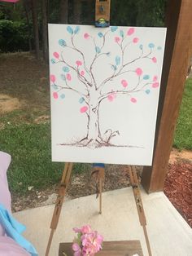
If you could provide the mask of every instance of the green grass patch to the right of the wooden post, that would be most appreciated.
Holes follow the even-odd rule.
[[[173,147],[192,150],[192,78],[185,84]]]

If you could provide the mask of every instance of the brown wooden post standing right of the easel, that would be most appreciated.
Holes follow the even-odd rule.
[[[142,186],[146,192],[164,189],[168,158],[172,149],[192,43],[192,1],[169,0],[167,40],[159,98],[153,166],[145,166]]]

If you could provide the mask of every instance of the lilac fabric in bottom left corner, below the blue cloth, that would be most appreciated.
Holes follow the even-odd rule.
[[[1,256],[30,256],[28,252],[20,247],[11,237],[0,236]]]

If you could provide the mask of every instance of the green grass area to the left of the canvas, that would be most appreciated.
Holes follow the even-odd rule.
[[[64,164],[51,162],[50,122],[17,124],[7,121],[17,116],[18,112],[13,112],[9,118],[1,118],[4,121],[0,133],[1,150],[12,157],[8,170],[11,192],[21,194],[28,192],[29,186],[43,189],[59,183]],[[76,164],[73,171],[85,170],[86,166]]]

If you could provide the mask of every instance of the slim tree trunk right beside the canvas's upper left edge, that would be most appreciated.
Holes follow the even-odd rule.
[[[46,0],[41,0],[42,7],[42,50],[43,59],[48,60],[48,28],[47,28],[47,6]]]

